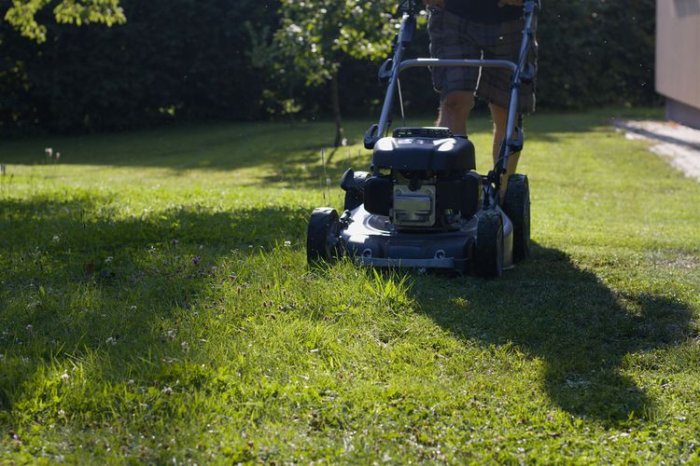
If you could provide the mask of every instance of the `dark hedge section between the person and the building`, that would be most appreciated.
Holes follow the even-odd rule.
[[[544,2],[538,103],[584,108],[658,101],[655,7],[655,0]]]

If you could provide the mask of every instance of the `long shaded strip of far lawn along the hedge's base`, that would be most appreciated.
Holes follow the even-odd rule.
[[[411,120],[410,125],[430,125],[432,116]],[[363,134],[373,122],[347,121],[345,132],[350,144],[359,144]],[[558,142],[567,133],[591,131],[605,126],[607,119],[588,114],[536,114],[526,121],[527,139]],[[400,126],[400,123],[397,122]],[[333,124],[312,123],[236,123],[185,128],[164,128],[153,131],[136,131],[124,134],[97,134],[77,137],[48,136],[31,140],[0,141],[0,162],[17,165],[47,163],[44,149],[51,147],[61,153],[61,165],[92,165],[111,167],[159,167],[176,172],[185,170],[238,170],[244,168],[272,167],[272,181],[289,181],[295,171],[306,165],[320,165],[320,151],[326,149],[328,164],[348,164],[342,154],[333,155],[330,142]],[[472,134],[490,134],[491,122],[487,115],[476,115],[470,120]],[[326,137],[327,136],[327,137]],[[359,149],[360,164],[357,170],[366,170],[371,152]],[[353,148],[354,151],[354,148]],[[486,152],[484,152],[486,151]],[[477,147],[479,154],[490,153]],[[352,153],[353,157],[357,154]],[[297,178],[308,178],[304,172]],[[315,174],[318,175],[318,174]],[[270,180],[266,180],[270,181]],[[293,181],[293,180],[292,180]],[[310,181],[312,187],[318,180]]]

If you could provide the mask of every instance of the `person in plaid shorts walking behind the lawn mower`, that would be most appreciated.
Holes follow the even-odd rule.
[[[518,61],[523,31],[522,0],[423,0],[428,8],[430,55],[441,59],[499,59]],[[536,24],[533,24],[533,30]],[[537,42],[528,61],[536,66]],[[536,68],[535,68],[536,69]],[[453,134],[467,134],[474,97],[489,104],[493,118],[493,159],[496,163],[505,137],[511,73],[498,68],[433,68],[433,86],[440,94],[437,126]],[[535,110],[535,81],[523,83],[518,111]],[[501,179],[504,198],[508,178],[515,173],[520,153],[508,158]]]

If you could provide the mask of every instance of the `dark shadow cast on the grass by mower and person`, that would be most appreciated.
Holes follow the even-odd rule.
[[[417,299],[424,313],[461,338],[515,344],[541,358],[549,397],[584,418],[652,419],[654,400],[625,374],[626,358],[678,344],[690,332],[682,303],[617,294],[563,252],[541,246],[500,280],[456,289],[426,279],[421,290],[430,290]]]

